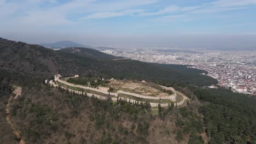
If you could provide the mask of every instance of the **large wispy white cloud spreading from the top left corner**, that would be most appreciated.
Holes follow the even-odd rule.
[[[142,13],[134,10],[141,5],[148,5],[159,0],[130,0],[98,2],[96,0],[72,0],[67,3],[58,3],[56,0],[24,0],[13,3],[0,0],[0,19],[5,16],[8,21],[2,23],[6,26],[55,26],[70,25],[84,22],[88,19],[104,19]],[[49,7],[40,7],[47,3]],[[79,14],[76,20],[69,20],[68,15]],[[88,15],[89,14],[89,15]],[[15,15],[15,16],[13,16]],[[86,16],[87,15],[87,16]],[[84,17],[87,17],[85,19]],[[1,26],[1,20],[0,20]]]

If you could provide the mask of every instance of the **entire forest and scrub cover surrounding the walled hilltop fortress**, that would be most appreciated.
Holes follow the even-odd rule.
[[[96,50],[79,49],[87,54],[0,39],[0,143],[19,143],[4,111],[16,85],[22,87],[22,94],[11,100],[10,117],[27,143],[256,142],[256,98],[230,89],[204,88],[216,83],[200,75],[206,71],[129,59],[112,61],[112,56]],[[147,80],[171,86],[191,100],[184,107],[150,107],[89,98],[86,93],[77,95],[44,84],[58,73]]]

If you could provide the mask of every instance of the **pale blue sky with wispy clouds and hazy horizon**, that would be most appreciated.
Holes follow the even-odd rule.
[[[256,0],[0,0],[0,37],[31,44],[256,49]]]

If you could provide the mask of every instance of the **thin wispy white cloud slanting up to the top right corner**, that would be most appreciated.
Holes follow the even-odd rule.
[[[157,23],[184,22],[191,20],[189,18],[191,14],[222,13],[224,11],[246,9],[254,4],[256,4],[256,0],[218,0],[189,7],[170,5],[155,12],[140,13],[139,16],[158,16],[152,19]]]

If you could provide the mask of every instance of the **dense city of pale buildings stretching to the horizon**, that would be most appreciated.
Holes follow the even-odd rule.
[[[256,95],[256,52],[210,50],[102,50],[110,55],[143,62],[191,65],[188,67],[208,71],[221,87],[234,92]],[[210,86],[217,88],[216,86]]]

